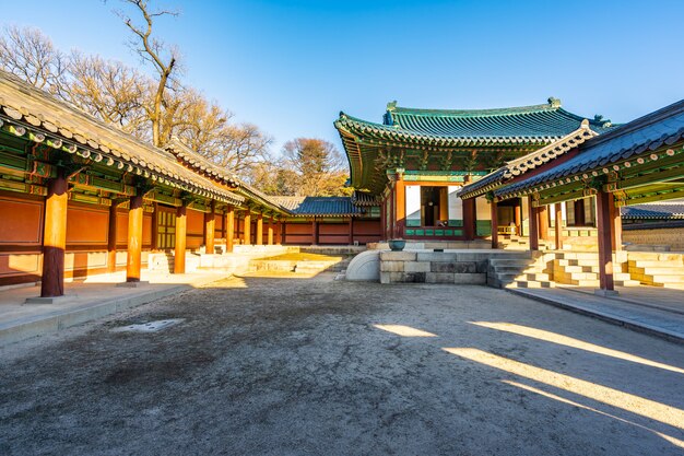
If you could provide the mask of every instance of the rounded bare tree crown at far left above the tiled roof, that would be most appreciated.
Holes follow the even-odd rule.
[[[38,89],[60,95],[68,72],[66,56],[37,28],[10,25],[0,36],[0,68]]]

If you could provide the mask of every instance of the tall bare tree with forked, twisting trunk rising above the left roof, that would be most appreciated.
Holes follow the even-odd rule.
[[[163,103],[164,92],[168,89],[172,74],[178,63],[178,51],[175,48],[168,48],[163,42],[152,36],[152,25],[156,17],[164,15],[178,15],[177,12],[160,10],[151,11],[146,0],[122,0],[134,7],[135,11],[142,15],[143,25],[133,23],[133,20],[123,12],[118,12],[123,23],[133,32],[135,38],[131,43],[133,49],[140,57],[152,63],[158,80],[156,81],[156,90],[154,92],[150,119],[152,120],[152,143],[155,147],[162,144],[162,122],[163,122]]]

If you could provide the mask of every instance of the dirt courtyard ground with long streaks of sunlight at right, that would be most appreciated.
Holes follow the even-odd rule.
[[[0,355],[2,455],[681,455],[683,410],[684,347],[484,287],[232,278]]]

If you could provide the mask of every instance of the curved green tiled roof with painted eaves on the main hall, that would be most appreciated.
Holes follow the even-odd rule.
[[[381,124],[340,113],[334,126],[349,157],[351,185],[378,195],[387,183],[388,162],[406,169],[411,167],[402,162],[427,171],[488,171],[487,163],[511,161],[554,143],[579,129],[582,120],[549,98],[534,106],[460,110],[390,103]],[[599,117],[587,124],[593,133],[613,128]],[[465,165],[471,156],[477,162]]]

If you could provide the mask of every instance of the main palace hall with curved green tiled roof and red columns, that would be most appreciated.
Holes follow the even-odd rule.
[[[335,127],[351,185],[380,201],[384,238],[425,241],[492,235],[487,191],[553,159],[558,163],[573,148],[613,128],[568,113],[556,98],[479,110],[414,109],[394,102],[382,124],[341,113]],[[497,210],[499,226],[527,232],[523,200],[510,199]],[[591,224],[583,213],[583,207],[570,212],[570,225]]]

